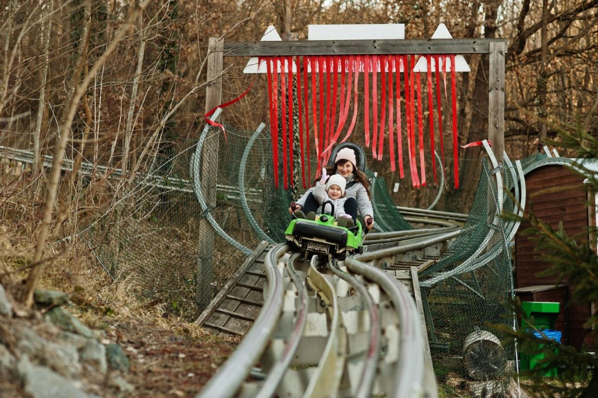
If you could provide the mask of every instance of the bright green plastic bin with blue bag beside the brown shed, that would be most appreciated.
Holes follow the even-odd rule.
[[[554,330],[554,322],[559,316],[560,303],[546,301],[522,301],[521,308],[526,317],[533,317],[532,324],[538,330]],[[524,324],[523,324],[524,323]],[[527,321],[521,322],[523,329],[530,329]],[[521,353],[520,368],[533,369],[544,358],[544,354],[529,355]],[[549,368],[542,373],[544,376],[556,376],[557,368]]]

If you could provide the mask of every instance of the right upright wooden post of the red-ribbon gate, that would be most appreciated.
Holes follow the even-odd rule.
[[[490,43],[490,75],[488,80],[488,140],[498,164],[502,164],[505,148],[505,54],[506,42]]]

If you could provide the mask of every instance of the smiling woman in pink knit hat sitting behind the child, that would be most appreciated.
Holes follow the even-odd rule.
[[[374,211],[372,209],[370,183],[364,173],[360,172],[355,160],[355,151],[351,148],[343,148],[338,151],[334,160],[334,167],[327,167],[327,174],[340,174],[346,179],[347,200],[344,202],[344,212],[351,216],[353,222],[357,221],[357,212],[362,215],[365,227],[371,229],[374,225]],[[316,212],[319,207],[318,201],[313,197],[313,189],[310,188],[297,201],[295,209],[289,207],[289,213],[300,210],[303,213]]]

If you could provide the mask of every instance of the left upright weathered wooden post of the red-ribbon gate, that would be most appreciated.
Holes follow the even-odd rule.
[[[208,73],[207,81],[222,72],[222,57],[224,55],[224,40],[218,40],[216,37],[210,37],[208,41]],[[222,78],[215,79],[206,86],[206,111],[222,103]],[[213,211],[216,207],[216,179],[218,177],[218,143],[219,136],[207,139],[203,143],[202,165],[201,165],[201,186],[202,194],[206,200],[208,209],[206,212]],[[197,183],[197,182],[196,182]],[[213,247],[215,232],[208,222],[208,219],[202,217],[199,222],[199,244],[200,252],[197,264],[197,304],[200,310],[208,306],[212,300],[213,278]]]

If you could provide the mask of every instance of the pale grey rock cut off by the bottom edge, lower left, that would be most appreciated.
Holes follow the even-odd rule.
[[[73,381],[44,366],[20,365],[25,391],[33,398],[89,398]]]

